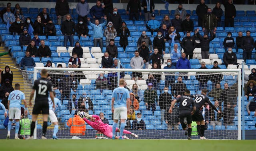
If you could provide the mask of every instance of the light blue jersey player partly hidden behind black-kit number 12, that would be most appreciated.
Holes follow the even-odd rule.
[[[58,109],[61,111],[61,103],[60,100],[58,98],[56,98],[56,93],[53,91],[53,95],[54,95],[54,104],[55,107],[58,106]],[[53,108],[53,103],[52,103],[52,99],[48,98],[48,103],[49,103],[49,119],[50,121],[54,124],[54,129],[53,129],[53,135],[52,135],[52,139],[58,139],[58,137],[56,136],[58,130],[59,130],[59,125],[58,125],[58,119],[54,113],[54,108]]]

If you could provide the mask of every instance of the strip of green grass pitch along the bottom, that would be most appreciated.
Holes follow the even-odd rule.
[[[1,151],[252,151],[255,140],[0,140]]]

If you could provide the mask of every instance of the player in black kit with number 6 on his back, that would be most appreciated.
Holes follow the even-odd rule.
[[[194,114],[194,112],[196,111],[196,104],[193,100],[193,98],[190,97],[190,90],[186,89],[185,90],[185,95],[184,96],[180,96],[177,99],[174,99],[172,101],[172,105],[169,109],[169,113],[172,113],[172,108],[174,107],[174,105],[176,104],[176,102],[180,102],[179,105],[179,110],[180,110],[180,123],[181,126],[183,128],[183,130],[186,129],[186,124],[184,123],[184,118],[187,119],[187,123],[188,123],[188,139],[191,139],[191,132],[192,132],[192,127],[191,127],[191,123],[192,123],[192,118],[191,118],[191,114]],[[193,111],[191,112],[191,106],[193,106]]]

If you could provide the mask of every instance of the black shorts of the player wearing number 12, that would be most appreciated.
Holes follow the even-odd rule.
[[[32,114],[49,114],[48,100],[36,101],[33,107]]]

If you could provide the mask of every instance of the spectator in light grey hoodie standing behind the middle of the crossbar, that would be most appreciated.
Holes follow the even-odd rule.
[[[131,65],[132,69],[142,69],[143,68],[144,61],[143,61],[143,58],[140,57],[138,50],[136,50],[134,52],[134,57],[132,57],[130,65]],[[138,79],[141,80],[142,73],[132,72],[132,80],[135,80],[136,76],[138,76]]]

